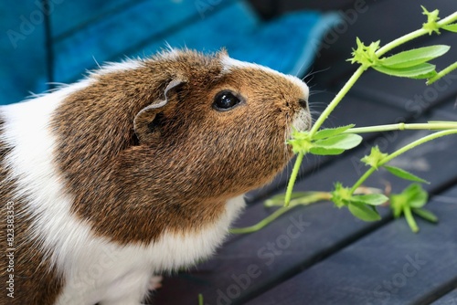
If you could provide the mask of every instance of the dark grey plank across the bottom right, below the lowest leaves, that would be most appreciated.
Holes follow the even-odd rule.
[[[430,303],[457,283],[457,204],[427,206],[439,225],[396,220],[247,304]]]

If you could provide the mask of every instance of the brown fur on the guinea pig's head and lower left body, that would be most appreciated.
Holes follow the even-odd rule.
[[[74,196],[72,212],[96,235],[125,245],[149,244],[165,230],[197,231],[218,220],[229,198],[268,183],[290,160],[284,141],[303,91],[256,68],[223,72],[224,56],[186,51],[146,60],[142,68],[93,75],[88,88],[71,94],[53,114],[55,164]],[[165,97],[174,80],[183,83]],[[214,110],[213,99],[223,89],[245,101],[233,110]],[[137,114],[165,98],[164,107],[137,118],[135,134]],[[159,113],[154,129],[144,128]],[[3,160],[4,143],[0,149]],[[2,181],[7,176],[0,165]],[[2,186],[3,201],[14,194],[14,182]],[[23,208],[20,198],[15,202]],[[27,240],[27,217],[17,225],[22,252],[16,251],[16,274],[24,278],[15,292],[21,301],[52,304],[62,282]],[[5,243],[5,230],[1,234]]]

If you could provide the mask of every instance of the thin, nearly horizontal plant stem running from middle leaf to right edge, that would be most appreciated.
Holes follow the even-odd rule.
[[[442,121],[442,122],[429,122],[429,123],[397,123],[387,125],[377,125],[368,127],[351,128],[344,133],[366,133],[366,132],[379,132],[379,131],[440,131],[440,130],[452,130],[457,129],[457,122],[455,121]]]

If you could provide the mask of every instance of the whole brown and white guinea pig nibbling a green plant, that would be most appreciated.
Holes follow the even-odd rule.
[[[0,303],[140,304],[282,171],[307,100],[295,77],[171,49],[1,107]]]

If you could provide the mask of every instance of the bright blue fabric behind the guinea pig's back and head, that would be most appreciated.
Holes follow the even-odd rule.
[[[82,78],[97,63],[154,54],[169,43],[216,51],[303,76],[333,14],[299,12],[264,22],[235,0],[49,0],[55,82]],[[41,14],[41,18],[40,18]],[[44,14],[38,0],[0,3],[0,104],[46,90]],[[28,26],[28,27],[27,27]],[[15,34],[16,33],[16,34]]]

